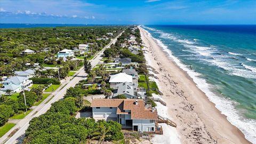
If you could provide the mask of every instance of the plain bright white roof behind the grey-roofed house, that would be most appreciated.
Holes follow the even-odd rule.
[[[109,83],[132,83],[132,76],[124,74],[124,73],[118,73],[115,75],[111,75],[109,79]]]

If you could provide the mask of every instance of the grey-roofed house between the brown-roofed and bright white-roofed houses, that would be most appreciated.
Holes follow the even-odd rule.
[[[138,97],[134,94],[133,85],[131,83],[121,83],[116,85],[116,90],[114,91],[113,97],[117,95],[125,95],[128,99],[137,99]]]

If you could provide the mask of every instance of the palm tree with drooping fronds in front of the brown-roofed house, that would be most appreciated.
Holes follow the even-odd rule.
[[[94,137],[92,140],[98,139],[98,144],[104,143],[105,139],[108,137],[111,137],[111,135],[108,135],[109,127],[106,127],[103,124],[99,125],[99,129],[93,133]]]

